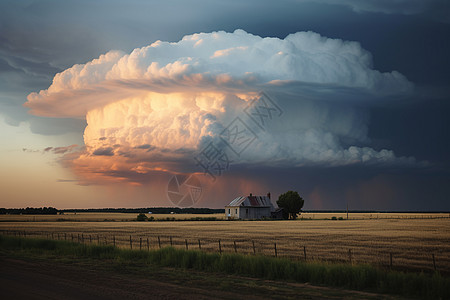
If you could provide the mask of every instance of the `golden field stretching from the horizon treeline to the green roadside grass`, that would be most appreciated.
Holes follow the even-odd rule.
[[[370,263],[412,271],[433,271],[436,266],[448,275],[450,219],[447,216],[402,214],[349,220],[187,222],[10,222],[3,219],[0,232],[142,250],[172,245],[214,252],[306,258],[307,261]]]

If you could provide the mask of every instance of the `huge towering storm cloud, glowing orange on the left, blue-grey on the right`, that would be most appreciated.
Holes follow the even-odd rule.
[[[412,84],[399,72],[374,70],[359,43],[313,32],[285,39],[242,30],[200,33],[130,54],[111,51],[57,74],[25,105],[41,116],[86,118],[79,164],[177,172],[192,171],[186,165],[196,151],[217,140],[261,90],[274,96],[283,117],[255,132],[252,151],[236,163],[412,161],[364,146],[368,118],[353,107],[355,101],[404,96]],[[76,168],[76,159],[71,165]]]

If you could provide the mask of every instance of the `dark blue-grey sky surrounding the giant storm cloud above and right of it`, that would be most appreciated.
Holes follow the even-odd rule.
[[[0,116],[7,126],[29,124],[37,136],[81,137],[84,119],[34,116],[23,107],[26,96],[47,89],[56,73],[110,50],[128,53],[156,40],[235,29],[356,41],[371,53],[373,69],[403,74],[412,93],[352,104],[368,122],[368,140],[357,146],[389,149],[417,163],[236,165],[226,176],[248,176],[274,194],[298,190],[306,209],[343,209],[348,202],[354,209],[450,210],[448,1],[2,1]]]

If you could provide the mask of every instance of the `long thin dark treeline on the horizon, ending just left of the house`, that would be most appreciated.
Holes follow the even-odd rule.
[[[153,214],[223,214],[225,209],[213,208],[179,208],[179,207],[147,207],[147,208],[88,208],[88,209],[63,209],[61,212],[116,212],[116,213],[149,213]]]

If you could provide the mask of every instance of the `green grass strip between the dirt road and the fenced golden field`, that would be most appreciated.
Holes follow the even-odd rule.
[[[450,299],[450,278],[438,273],[386,271],[370,265],[300,262],[260,255],[218,254],[167,247],[141,251],[113,246],[0,235],[0,247],[69,258],[108,259],[120,263],[194,269],[271,280],[342,287],[427,299]]]

